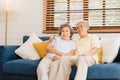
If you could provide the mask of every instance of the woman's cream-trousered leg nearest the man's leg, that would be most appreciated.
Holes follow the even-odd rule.
[[[59,60],[53,61],[50,65],[49,80],[56,80],[56,74],[58,72]]]

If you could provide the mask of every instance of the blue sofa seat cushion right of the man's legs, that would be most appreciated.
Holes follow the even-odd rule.
[[[88,79],[120,79],[120,63],[96,64],[88,69]]]

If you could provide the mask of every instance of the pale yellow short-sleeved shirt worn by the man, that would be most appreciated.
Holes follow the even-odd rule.
[[[76,40],[76,53],[78,54],[84,54],[89,52],[92,48],[97,47],[100,48],[100,40],[99,38],[94,34],[88,34],[85,38],[77,38]],[[98,62],[98,54],[93,55],[96,62]]]

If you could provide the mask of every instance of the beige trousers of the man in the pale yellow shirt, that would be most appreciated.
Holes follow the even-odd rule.
[[[59,69],[55,80],[69,80],[71,66],[77,66],[77,72],[74,80],[86,80],[88,67],[95,64],[92,56],[63,56],[60,59]]]

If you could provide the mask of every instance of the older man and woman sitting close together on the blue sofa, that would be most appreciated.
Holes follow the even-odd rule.
[[[74,80],[86,80],[88,67],[97,63],[100,42],[88,34],[88,22],[78,22],[76,28],[79,37],[74,41],[70,40],[73,30],[68,24],[60,26],[59,37],[51,38],[49,53],[37,68],[38,80],[69,80],[72,65],[77,66]]]

